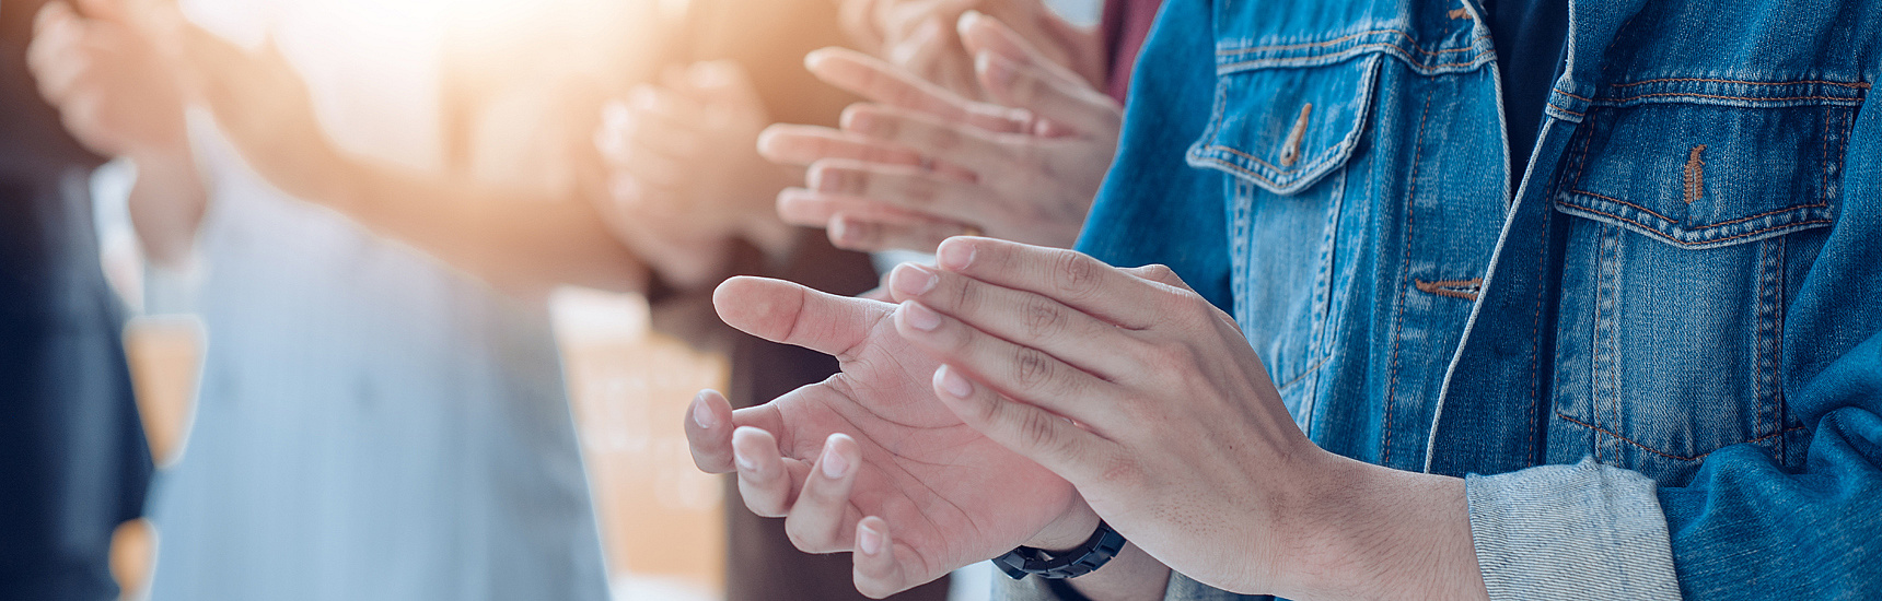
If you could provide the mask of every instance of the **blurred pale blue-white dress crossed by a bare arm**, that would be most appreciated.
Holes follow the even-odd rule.
[[[231,39],[269,32],[341,146],[422,169],[440,163],[439,8],[186,4]],[[152,490],[151,597],[606,599],[546,310],[282,195],[194,130],[209,344]]]

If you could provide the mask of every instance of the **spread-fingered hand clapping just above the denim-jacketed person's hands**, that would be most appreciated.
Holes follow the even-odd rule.
[[[969,101],[860,53],[826,49],[817,77],[875,100],[843,130],[774,126],[760,150],[809,165],[785,222],[826,225],[836,246],[932,252],[960,233],[1071,246],[1116,152],[1122,107],[1046,62],[990,17],[962,17],[979,77],[1007,105]],[[911,165],[896,152],[913,150]],[[892,156],[888,160],[879,160]]]

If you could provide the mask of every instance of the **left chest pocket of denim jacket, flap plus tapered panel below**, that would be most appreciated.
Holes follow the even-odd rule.
[[[1188,162],[1227,175],[1235,319],[1295,419],[1310,421],[1329,364],[1336,173],[1363,145],[1383,54],[1272,66],[1218,54],[1214,113]]]

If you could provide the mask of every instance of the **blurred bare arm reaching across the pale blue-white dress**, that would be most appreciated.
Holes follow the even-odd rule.
[[[173,9],[173,8],[171,8]],[[188,88],[271,184],[423,248],[499,287],[638,289],[646,269],[576,199],[523,197],[348,156],[320,130],[305,83],[263,47],[239,49],[171,13]]]

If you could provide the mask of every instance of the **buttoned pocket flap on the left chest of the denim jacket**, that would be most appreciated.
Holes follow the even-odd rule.
[[[1216,113],[1189,146],[1189,165],[1220,169],[1274,193],[1314,186],[1353,156],[1381,56],[1220,71]]]

